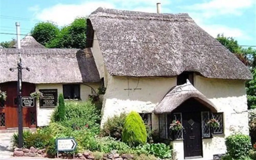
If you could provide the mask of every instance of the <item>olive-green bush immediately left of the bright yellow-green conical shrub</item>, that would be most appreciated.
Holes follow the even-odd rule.
[[[121,140],[126,116],[125,113],[122,113],[108,118],[100,130],[101,136],[110,136],[116,138],[116,140]]]

